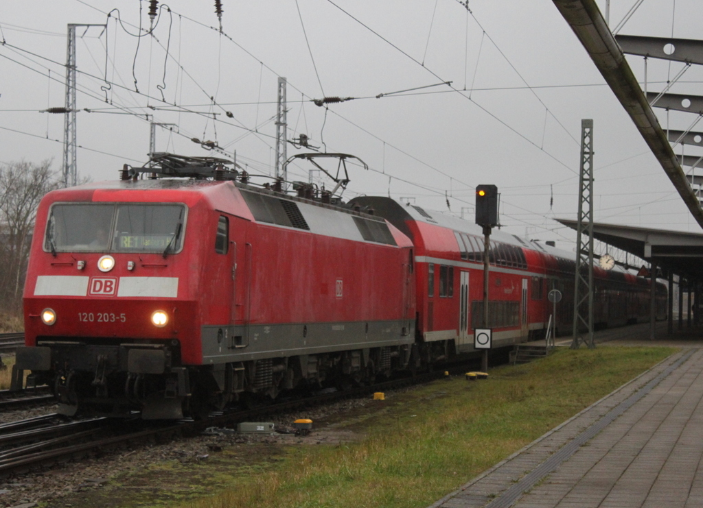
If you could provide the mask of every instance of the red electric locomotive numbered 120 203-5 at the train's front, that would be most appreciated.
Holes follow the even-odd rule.
[[[411,241],[380,218],[234,182],[219,162],[165,156],[44,197],[17,379],[32,370],[65,414],[154,419],[407,365]],[[137,178],[152,172],[187,180]]]

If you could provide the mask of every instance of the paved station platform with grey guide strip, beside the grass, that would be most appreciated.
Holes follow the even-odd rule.
[[[430,508],[703,507],[703,329],[648,337],[636,325],[595,344],[681,351]]]

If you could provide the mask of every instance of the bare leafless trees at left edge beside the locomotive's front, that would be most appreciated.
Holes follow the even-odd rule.
[[[51,160],[0,167],[0,298],[6,305],[20,302],[39,201],[58,187]]]

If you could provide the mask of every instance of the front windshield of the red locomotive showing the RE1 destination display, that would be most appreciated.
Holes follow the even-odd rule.
[[[180,204],[56,203],[44,250],[177,253],[185,219],[186,207]]]

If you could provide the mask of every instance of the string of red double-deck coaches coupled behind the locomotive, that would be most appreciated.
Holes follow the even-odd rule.
[[[444,213],[380,196],[363,196],[351,206],[386,218],[415,244],[418,348],[431,359],[472,352],[473,330],[483,320],[482,228]],[[543,337],[553,306],[549,290],[562,291],[557,328],[572,333],[574,255],[494,229],[489,249],[489,323],[494,347]],[[617,267],[594,268],[595,324],[618,326],[648,319],[650,283]],[[657,284],[659,319],[666,288]]]

